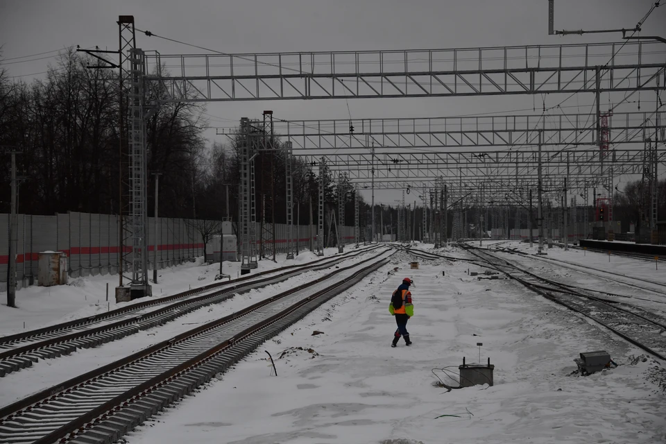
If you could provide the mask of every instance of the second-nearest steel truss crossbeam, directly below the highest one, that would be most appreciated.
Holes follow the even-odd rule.
[[[666,111],[659,111],[664,119]],[[615,112],[609,115],[608,143],[642,143],[644,128],[656,112]],[[355,134],[349,133],[354,126]],[[275,123],[275,132],[293,143],[298,155],[322,151],[357,152],[371,144],[377,153],[395,148],[461,148],[527,146],[598,146],[595,118],[590,114],[515,114],[493,117],[423,117],[403,119],[290,120]],[[370,145],[368,145],[370,144]]]

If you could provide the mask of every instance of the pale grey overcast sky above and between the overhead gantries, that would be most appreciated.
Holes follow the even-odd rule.
[[[555,0],[555,28],[633,28],[653,2]],[[115,50],[118,15],[134,15],[139,29],[225,53],[441,49],[621,40],[619,34],[548,35],[547,5],[547,0],[0,0],[0,44],[5,59],[76,44]],[[642,35],[666,36],[666,3],[653,12],[642,29]],[[137,35],[137,44],[162,54],[202,52],[145,35]],[[54,55],[21,59],[5,67],[11,76],[22,76],[29,81],[43,76],[35,73],[46,71],[49,63],[54,62]],[[594,100],[592,94],[578,96],[571,99],[572,104],[591,105]],[[548,96],[546,106],[561,99],[563,96]],[[643,106],[654,110],[654,105],[648,105],[649,100],[654,103],[654,94],[647,99]],[[357,99],[349,100],[349,111],[343,100],[210,103],[207,112],[211,126],[229,126],[241,117],[259,118],[265,109],[273,110],[280,119],[347,119],[349,113],[357,119],[477,114],[532,106],[531,96],[499,96]],[[214,130],[207,132],[211,140],[218,137],[223,142],[223,136],[214,134]],[[392,203],[395,192],[379,192],[375,196],[376,201]]]

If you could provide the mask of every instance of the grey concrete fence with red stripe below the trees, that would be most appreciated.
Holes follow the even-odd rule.
[[[0,214],[0,282],[7,282],[9,264],[9,214]],[[260,228],[257,224],[257,234]],[[311,233],[311,234],[310,234]],[[343,227],[343,241],[354,241],[354,228]],[[294,226],[299,250],[316,248],[316,227]],[[119,219],[112,214],[67,212],[55,216],[17,215],[16,256],[17,288],[37,283],[37,259],[42,251],[67,254],[68,273],[72,278],[97,274],[117,274],[119,269]],[[157,238],[157,239],[155,239]],[[165,268],[203,256],[204,242],[196,222],[187,219],[148,218],[148,261],[153,268],[157,240],[157,268]],[[287,252],[287,225],[275,225],[278,253]],[[126,247],[127,248],[127,247]],[[124,264],[127,271],[127,265]],[[2,289],[5,290],[5,289]]]

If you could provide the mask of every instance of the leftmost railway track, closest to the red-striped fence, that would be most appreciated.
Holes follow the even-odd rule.
[[[237,294],[282,282],[307,271],[317,271],[345,259],[366,254],[369,248],[303,265],[292,265],[273,271],[256,273],[251,278],[215,283],[185,291],[159,300],[147,300],[100,314],[53,325],[33,332],[0,338],[0,377],[30,367],[40,359],[69,355],[80,348],[90,348],[116,341],[141,330],[162,325],[191,311],[228,300]],[[259,278],[267,275],[266,278]]]

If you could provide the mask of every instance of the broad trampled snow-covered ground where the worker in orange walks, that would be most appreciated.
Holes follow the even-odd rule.
[[[400,253],[128,443],[666,441],[663,363],[513,282],[472,278],[464,262],[419,259],[410,270],[411,258]],[[416,281],[407,325],[414,344],[390,348],[388,300],[405,275]],[[495,385],[434,386],[431,370],[477,361],[477,342],[481,361],[495,365]],[[620,366],[575,375],[573,359],[592,350],[608,350]]]

